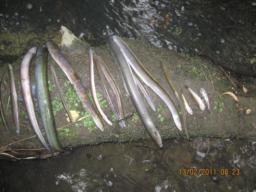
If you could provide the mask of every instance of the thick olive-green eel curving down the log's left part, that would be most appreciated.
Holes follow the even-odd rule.
[[[68,153],[70,151],[64,149],[61,146],[58,140],[58,134],[55,127],[52,102],[48,88],[47,57],[47,47],[45,45],[42,45],[38,48],[35,67],[35,81],[37,86],[36,90],[38,97],[38,107],[41,114],[44,131],[49,144],[55,151]]]

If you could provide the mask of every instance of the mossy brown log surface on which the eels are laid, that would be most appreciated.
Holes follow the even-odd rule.
[[[59,48],[63,51],[67,60],[73,65],[81,77],[87,92],[90,93],[88,64],[89,45],[77,39],[71,32],[65,30],[64,28],[62,29],[61,44],[59,45]],[[200,58],[195,58],[191,55],[180,54],[170,51],[169,49],[154,47],[153,45],[142,41],[134,41],[129,39],[124,40],[144,64],[145,68],[154,76],[154,78],[167,91],[167,93],[169,93],[178,107],[178,102],[175,95],[172,93],[172,90],[164,78],[160,67],[160,61],[164,61],[166,63],[169,73],[172,75],[177,87],[183,91],[193,110],[192,116],[186,114],[189,124],[190,137],[221,137],[256,140],[256,127],[254,126],[256,125],[255,79],[242,77],[238,82],[234,80],[233,77],[230,77],[234,83],[232,84],[230,79],[222,72],[222,70],[209,61],[201,60]],[[105,61],[113,78],[116,80],[116,83],[119,86],[124,104],[124,113],[128,114],[134,112],[136,114],[131,99],[125,92],[119,70],[114,63],[108,47],[106,45],[94,47],[94,51],[102,57],[103,61]],[[18,59],[13,64],[17,90],[20,90],[19,67],[21,59],[22,58]],[[60,86],[64,91],[64,96],[67,98],[67,103],[70,105],[70,109],[77,111],[77,113],[79,113],[79,118],[87,116],[81,103],[76,102],[76,95],[73,94],[73,88],[67,82],[67,77],[64,75],[63,71],[61,71],[55,61],[52,60],[51,56],[48,56],[48,64],[52,64],[55,67]],[[6,65],[1,66],[0,71],[3,72],[5,67]],[[35,59],[30,72],[32,82],[35,82],[34,70]],[[55,111],[55,122],[57,128],[59,128],[59,138],[64,147],[150,139],[148,133],[143,127],[142,122],[137,118],[137,116],[126,120],[127,127],[125,129],[119,128],[117,123],[114,123],[113,126],[109,126],[104,122],[105,131],[102,132],[95,128],[90,118],[85,118],[81,122],[64,127],[65,125],[68,125],[69,122],[67,122],[67,116],[65,115],[64,109],[62,109],[61,105],[59,105],[56,90],[52,86],[53,81],[49,67],[48,78],[51,98],[53,101],[52,105],[54,106]],[[8,77],[5,75],[3,80],[8,81]],[[97,76],[95,83],[96,92],[99,93],[99,97],[101,98],[100,102],[105,108],[104,111],[111,118],[113,114],[108,103],[105,101],[105,93],[102,90],[102,86]],[[196,103],[192,100],[192,97],[184,88],[184,85],[189,86],[198,93],[199,89],[203,87],[209,93],[210,113],[207,110],[199,110]],[[243,85],[245,88],[247,88],[247,93],[244,92],[242,88]],[[160,132],[162,139],[185,139],[185,131],[183,130],[180,132],[176,128],[167,106],[152,90],[150,90],[149,87],[147,88],[152,99],[154,100],[157,111],[152,111],[145,99],[144,102],[154,124]],[[231,96],[220,95],[220,93],[225,93],[227,91],[233,91],[236,94],[239,99],[239,106],[236,105],[236,101]],[[3,107],[6,109],[9,95],[4,85],[2,86],[1,94],[3,98]],[[36,95],[34,95],[34,99],[36,105],[35,107],[38,112]],[[36,137],[15,143],[13,145],[8,145],[9,143],[35,135],[29,122],[25,119],[25,108],[23,102],[19,102],[18,105],[20,114],[20,135],[16,135],[15,131],[12,129],[14,127],[12,110],[9,108],[7,122],[11,128],[11,134],[7,134],[6,131],[4,131],[3,124],[0,124],[0,145],[2,147],[5,146],[5,149],[41,148],[42,145]],[[239,110],[237,109],[238,107]],[[246,114],[247,109],[251,109],[249,114]],[[38,122],[42,128],[39,113]]]

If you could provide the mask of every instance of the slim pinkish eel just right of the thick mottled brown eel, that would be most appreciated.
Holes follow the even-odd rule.
[[[102,111],[102,108],[99,105],[99,100],[96,95],[96,89],[95,89],[95,83],[94,83],[94,70],[93,70],[93,50],[91,48],[89,49],[89,68],[90,68],[90,90],[92,93],[93,102],[100,116],[102,116],[102,119],[104,119],[105,122],[108,123],[108,125],[112,126],[112,122],[108,119],[108,117]]]

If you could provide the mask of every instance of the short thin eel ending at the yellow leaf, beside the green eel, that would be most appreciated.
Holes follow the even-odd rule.
[[[74,119],[73,119],[73,117],[72,117],[72,115],[71,115],[71,113],[70,113],[70,110],[69,110],[69,108],[68,108],[68,106],[67,106],[67,103],[66,103],[66,101],[65,101],[65,98],[64,98],[63,94],[61,93],[61,87],[60,87],[60,85],[59,85],[59,83],[58,83],[58,79],[57,79],[55,70],[54,70],[54,68],[53,68],[52,65],[50,65],[50,68],[51,68],[51,72],[52,72],[52,79],[53,79],[53,82],[54,82],[54,84],[55,84],[55,87],[56,87],[58,96],[61,98],[62,105],[64,106],[64,109],[65,109],[65,111],[67,112],[67,116],[68,116],[68,118],[70,119],[70,122],[71,122],[71,123],[74,123]]]

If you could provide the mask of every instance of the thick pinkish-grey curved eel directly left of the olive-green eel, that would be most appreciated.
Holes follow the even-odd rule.
[[[29,121],[31,123],[31,126],[33,130],[35,131],[36,136],[38,139],[41,141],[41,143],[47,148],[50,154],[52,154],[52,151],[48,147],[47,143],[44,140],[43,134],[40,130],[38,120],[36,118],[35,114],[35,108],[34,108],[34,102],[32,98],[32,92],[31,92],[31,84],[30,84],[30,76],[29,76],[29,66],[30,63],[36,54],[36,47],[32,47],[29,49],[29,51],[24,55],[21,64],[20,64],[20,85],[21,85],[21,90],[23,94],[23,101],[25,104],[26,108],[26,113],[29,117]],[[52,154],[52,156],[54,156]]]

